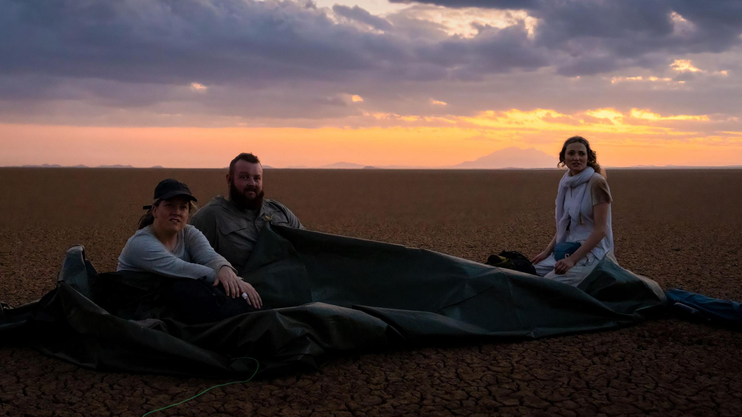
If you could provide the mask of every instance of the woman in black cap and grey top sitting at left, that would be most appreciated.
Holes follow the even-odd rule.
[[[127,240],[116,270],[191,278],[174,283],[166,297],[183,304],[183,312],[198,315],[190,321],[211,321],[260,309],[263,301],[252,285],[237,277],[237,271],[214,252],[209,240],[188,224],[195,201],[188,186],[177,180],[157,184],[154,202],[144,207],[147,212],[139,219],[137,232]],[[223,292],[213,288],[220,283]],[[246,302],[232,300],[238,296]],[[214,305],[199,305],[194,311],[193,303],[202,304],[200,301]]]

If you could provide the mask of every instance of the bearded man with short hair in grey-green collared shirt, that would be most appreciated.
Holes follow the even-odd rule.
[[[229,200],[217,195],[191,217],[191,225],[242,272],[267,223],[305,228],[286,206],[263,198],[263,165],[255,155],[237,155],[229,162],[226,180]]]

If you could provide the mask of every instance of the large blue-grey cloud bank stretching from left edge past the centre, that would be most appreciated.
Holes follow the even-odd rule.
[[[336,6],[335,13],[393,29],[360,7]],[[389,34],[365,32],[336,24],[311,2],[4,1],[0,91],[63,99],[65,93],[84,95],[85,87],[68,91],[59,82],[85,79],[92,80],[91,96],[104,94],[113,101],[122,96],[128,103],[131,94],[124,85],[101,91],[95,80],[260,89],[358,79],[434,81],[548,64],[539,56],[542,52],[528,45],[522,28],[483,31],[473,42],[448,39],[435,24],[416,30],[419,36],[413,38],[404,28]],[[444,42],[430,40],[436,36]],[[13,76],[48,79],[22,90],[13,87]],[[149,102],[151,97],[141,99]]]

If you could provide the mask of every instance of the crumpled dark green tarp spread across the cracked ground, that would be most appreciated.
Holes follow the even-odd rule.
[[[74,246],[56,289],[4,309],[0,343],[96,370],[242,377],[313,369],[328,352],[513,341],[613,329],[663,304],[657,283],[605,257],[579,287],[424,249],[266,228],[244,271],[265,306],[212,324],[168,317],[167,278],[97,275]],[[196,307],[194,307],[196,308]]]

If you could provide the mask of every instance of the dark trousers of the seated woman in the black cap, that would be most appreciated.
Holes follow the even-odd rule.
[[[204,280],[176,280],[162,296],[175,318],[185,324],[212,323],[256,311],[242,297],[227,297],[221,284],[211,286]]]

